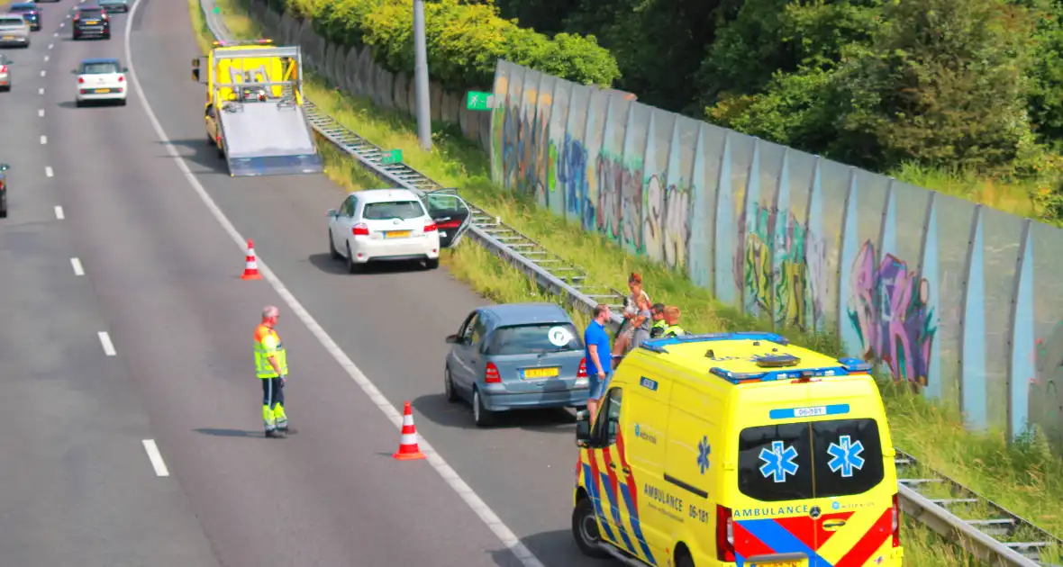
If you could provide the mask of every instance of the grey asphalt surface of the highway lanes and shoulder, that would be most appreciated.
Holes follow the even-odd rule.
[[[187,6],[140,0],[125,63],[186,167],[320,324],[309,328],[268,281],[239,279],[241,247],[139,92],[74,107],[71,70],[124,61],[128,16],[113,17],[111,40],[72,41],[74,0],[41,5],[44,30],[7,51],[18,74],[0,94],[4,565],[535,567],[500,530],[543,565],[603,565],[569,531],[571,414],[479,430],[442,396],[443,338],[483,298],[445,270],[343,273],[324,216],[343,191],[324,176],[229,177],[190,79]],[[289,353],[286,440],[263,436],[252,371],[267,304]],[[434,463],[391,459],[398,429],[322,334],[394,408],[412,401],[419,433],[486,506]]]

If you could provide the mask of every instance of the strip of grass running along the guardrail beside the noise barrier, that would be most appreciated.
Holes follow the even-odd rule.
[[[233,0],[219,0],[218,4],[235,36],[257,36],[257,27]],[[189,0],[189,11],[193,25],[200,30],[200,46],[207,49],[210,38],[198,0]],[[490,182],[487,155],[453,128],[436,127],[434,149],[424,152],[418,145],[415,123],[398,113],[381,110],[367,100],[344,96],[313,76],[308,78],[304,91],[322,111],[379,147],[402,149],[410,166],[443,185],[459,187],[461,194],[477,206],[588,270],[597,281],[624,289],[629,272],[642,273],[654,300],[684,307],[684,326],[688,329],[703,332],[770,330],[771,323],[719,304],[681,274],[644,258],[630,257],[600,235],[585,233],[538,210],[529,200],[497,188]],[[341,186],[353,190],[381,185],[331,144],[322,143],[321,150],[328,176]],[[456,250],[448,251],[443,263],[456,278],[489,299],[553,300],[520,272],[468,239]],[[577,324],[586,323],[580,313],[573,315]],[[838,341],[833,337],[796,331],[783,334],[804,346],[838,354]],[[1009,446],[1000,431],[972,433],[964,430],[954,408],[929,403],[889,381],[881,386],[897,446],[1014,513],[1053,533],[1063,533],[1063,475],[1049,472],[1063,468],[1063,460],[1052,456],[1043,441]],[[905,537],[906,565],[977,564],[956,548],[943,546],[934,534],[912,520],[905,522]]]

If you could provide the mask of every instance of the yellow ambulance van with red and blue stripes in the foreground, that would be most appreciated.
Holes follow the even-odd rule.
[[[572,532],[677,567],[900,566],[893,443],[871,366],[774,333],[644,342],[576,424]]]

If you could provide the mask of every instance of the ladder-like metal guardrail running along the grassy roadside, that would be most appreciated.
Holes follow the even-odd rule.
[[[215,14],[214,0],[200,0],[207,27],[218,39],[229,39],[230,33],[220,14]],[[383,181],[412,190],[418,194],[443,189],[421,172],[405,164],[383,165],[384,151],[351,132],[335,119],[321,113],[304,99],[307,120],[314,130],[351,155]],[[473,223],[470,234],[502,260],[534,279],[546,292],[560,297],[575,308],[589,312],[600,303],[620,307],[624,294],[588,281],[584,270],[551,253],[532,238],[502,223],[472,204]],[[621,317],[613,315],[613,324]],[[945,539],[952,542],[979,560],[996,567],[1063,567],[1041,562],[1043,551],[1054,548],[1063,552],[1063,540],[994,503],[959,482],[938,472],[912,456],[897,449],[898,491],[904,513],[917,519]],[[911,477],[911,478],[902,478]],[[963,517],[961,517],[961,515]]]

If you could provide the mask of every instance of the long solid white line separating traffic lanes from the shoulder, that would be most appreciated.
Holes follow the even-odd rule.
[[[243,247],[248,242],[247,239],[236,230],[233,223],[230,222],[229,218],[225,217],[225,213],[218,207],[218,204],[210,199],[210,195],[206,192],[206,189],[203,188],[203,185],[196,178],[196,175],[192,174],[190,169],[188,169],[188,165],[181,157],[176,147],[166,135],[166,131],[163,130],[163,125],[158,123],[158,118],[155,117],[155,111],[152,110],[151,103],[149,102],[148,97],[144,93],[144,87],[140,86],[140,80],[138,79],[139,73],[137,73],[134,68],[133,53],[130,47],[132,22],[136,20],[136,11],[139,5],[140,0],[133,1],[133,6],[130,8],[129,16],[126,16],[124,33],[125,61],[129,62],[130,71],[132,71],[130,73],[130,78],[133,82],[133,87],[136,88],[137,96],[144,102],[142,106],[145,113],[148,115],[148,120],[151,121],[152,127],[155,128],[155,134],[166,145],[166,151],[173,157],[174,164],[176,164],[178,168],[184,174],[188,185],[191,186],[191,188],[199,195],[200,200],[203,201],[203,204],[210,211],[210,214],[213,214],[215,220],[218,221],[218,224],[220,224],[225,233],[229,234],[229,237],[233,240],[236,247],[243,251]],[[402,415],[399,413],[399,410],[396,410],[395,407],[388,401],[388,398],[384,397],[384,394],[382,394],[376,385],[373,384],[372,380],[370,380],[358,368],[358,366],[354,364],[354,361],[352,361],[351,358],[343,353],[343,349],[341,349],[339,345],[336,344],[336,341],[334,341],[332,337],[330,337],[328,333],[321,327],[321,325],[315,321],[314,316],[310,315],[306,308],[299,303],[299,299],[297,299],[296,296],[288,291],[288,288],[285,287],[281,279],[276,277],[273,271],[270,270],[266,265],[266,262],[261,261],[261,259],[258,260],[258,273],[261,274],[267,281],[269,281],[270,286],[276,291],[277,295],[280,295],[281,298],[284,299],[284,303],[288,305],[288,308],[291,309],[291,312],[303,323],[303,325],[306,326],[310,333],[313,333],[318,342],[321,343],[321,346],[324,347],[330,355],[332,355],[333,359],[335,359],[343,371],[347,372],[348,376],[354,380],[354,383],[358,384],[358,388],[360,388],[361,391],[369,396],[369,399],[372,400],[373,405],[375,405],[376,408],[381,410],[381,412],[384,413],[389,420],[391,420],[391,424],[395,427],[395,429],[401,430]],[[427,457],[428,464],[436,469],[436,472],[443,478],[443,481],[446,482],[446,484],[450,485],[455,493],[457,493],[458,497],[460,497],[461,500],[463,500],[465,503],[472,509],[476,516],[478,516],[479,519],[487,525],[488,529],[490,529],[491,532],[493,532],[494,535],[502,542],[502,545],[506,546],[506,548],[509,549],[509,552],[512,553],[513,556],[516,556],[521,564],[524,565],[524,567],[543,567],[542,562],[539,561],[539,559],[532,553],[527,546],[525,546],[517,537],[517,534],[514,534],[513,531],[502,521],[502,518],[500,518],[499,515],[495,514],[486,502],[484,502],[484,499],[472,489],[472,486],[458,476],[457,471],[446,463],[443,457],[439,454],[435,448],[433,448],[432,444],[428,443],[428,440],[421,436],[418,445],[421,452]]]

